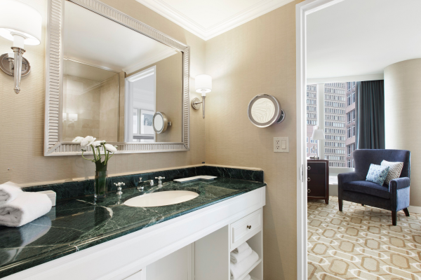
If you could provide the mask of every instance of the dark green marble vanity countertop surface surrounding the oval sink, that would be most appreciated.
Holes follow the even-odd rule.
[[[190,183],[168,182],[161,189],[145,186],[142,193],[137,188],[128,188],[123,190],[121,198],[108,193],[107,198],[96,205],[93,196],[59,201],[46,216],[20,228],[0,226],[0,278],[263,186],[266,184],[218,178]],[[192,190],[199,196],[163,207],[123,205],[131,197],[164,190]]]

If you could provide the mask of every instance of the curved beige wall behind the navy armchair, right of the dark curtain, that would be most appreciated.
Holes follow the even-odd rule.
[[[409,150],[410,205],[421,207],[420,88],[421,59],[410,59],[385,68],[385,139],[386,148]],[[406,137],[410,136],[410,137]],[[411,211],[411,209],[409,209]]]

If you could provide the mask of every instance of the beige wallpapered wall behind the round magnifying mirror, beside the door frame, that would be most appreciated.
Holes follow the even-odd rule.
[[[296,139],[294,1],[206,41],[206,163],[265,171],[264,272],[268,280],[296,279]],[[286,120],[255,127],[247,106],[272,94]],[[273,137],[289,137],[289,153],[274,153]]]

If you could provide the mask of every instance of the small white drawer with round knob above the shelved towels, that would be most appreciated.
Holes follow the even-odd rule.
[[[231,230],[231,249],[233,250],[262,229],[262,209],[232,223],[229,228]]]

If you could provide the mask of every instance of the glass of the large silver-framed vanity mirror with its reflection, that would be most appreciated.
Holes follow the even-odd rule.
[[[62,141],[181,142],[182,52],[71,1],[64,14]]]

